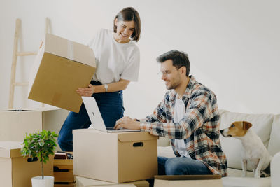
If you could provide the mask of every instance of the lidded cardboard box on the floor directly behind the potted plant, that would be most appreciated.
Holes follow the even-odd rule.
[[[31,178],[41,176],[41,162],[28,162],[20,154],[19,141],[0,141],[0,186],[31,187]],[[43,165],[44,175],[53,176],[53,156]]]

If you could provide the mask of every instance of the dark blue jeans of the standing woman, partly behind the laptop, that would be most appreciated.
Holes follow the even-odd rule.
[[[100,83],[91,82],[92,85],[100,85]],[[123,91],[96,93],[92,97],[95,98],[99,111],[107,127],[113,127],[116,120],[123,117],[125,111],[123,107]],[[72,130],[86,129],[90,127],[90,118],[87,115],[85,105],[80,106],[79,113],[70,112],[67,116],[58,136],[58,144],[62,151],[73,151],[73,134]]]

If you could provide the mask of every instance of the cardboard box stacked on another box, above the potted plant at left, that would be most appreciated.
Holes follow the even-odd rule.
[[[25,133],[59,133],[69,111],[63,109],[0,111],[0,141],[23,141]]]

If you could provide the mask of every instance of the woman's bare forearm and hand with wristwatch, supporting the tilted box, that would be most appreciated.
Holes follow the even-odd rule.
[[[110,83],[108,84],[108,91],[107,92],[117,92],[120,90],[125,90],[127,88],[127,85],[130,83],[130,81],[120,78],[120,81],[116,83]],[[76,92],[80,96],[87,96],[90,97],[94,93],[102,93],[106,92],[104,85],[88,85],[88,88],[78,88]]]

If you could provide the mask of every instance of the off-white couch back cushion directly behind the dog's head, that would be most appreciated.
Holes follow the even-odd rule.
[[[262,142],[267,147],[269,136],[271,133],[272,123],[274,119],[273,114],[247,114],[235,113],[221,110],[221,126],[220,129],[230,127],[234,121],[246,120],[253,124],[253,129],[256,134],[262,139]],[[221,137],[222,149],[228,159],[228,167],[241,169],[241,141],[232,137]],[[248,170],[252,170],[251,165],[248,164]]]

